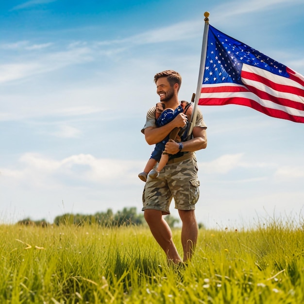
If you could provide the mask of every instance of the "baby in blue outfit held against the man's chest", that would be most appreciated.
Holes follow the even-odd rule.
[[[155,119],[156,119],[156,126],[161,127],[167,123],[169,123],[171,120],[173,120],[179,113],[184,112],[186,116],[191,118],[193,105],[192,103],[189,103],[187,101],[181,101],[181,105],[179,105],[175,110],[167,108],[164,110],[165,104],[162,102],[156,103],[155,108]],[[174,128],[169,136],[167,136],[164,140],[157,143],[155,145],[155,149],[151,154],[150,159],[148,160],[146,167],[143,172],[138,174],[138,177],[146,182],[148,174],[151,178],[156,178],[159,174],[159,172],[166,166],[168,160],[169,160],[169,154],[164,152],[165,145],[169,139],[175,140],[177,135],[180,133],[181,130],[183,130],[183,133],[185,133],[185,129],[187,128]],[[157,169],[153,169],[156,163],[159,162]]]

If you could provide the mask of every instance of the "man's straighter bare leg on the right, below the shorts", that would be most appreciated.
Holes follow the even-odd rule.
[[[194,253],[198,236],[198,226],[194,210],[178,210],[178,213],[183,223],[181,239],[185,262],[190,260]]]

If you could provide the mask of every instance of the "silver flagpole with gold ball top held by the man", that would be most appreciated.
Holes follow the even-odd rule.
[[[209,15],[210,15],[209,12],[204,13],[205,26],[204,26],[204,33],[203,33],[201,65],[200,65],[199,79],[198,79],[198,84],[197,84],[197,89],[196,89],[196,94],[195,94],[194,106],[193,106],[193,111],[192,111],[192,116],[191,116],[191,122],[190,122],[190,127],[188,130],[188,136],[191,135],[193,128],[195,126],[195,122],[196,122],[196,118],[197,118],[197,106],[198,106],[199,99],[201,96],[201,89],[202,89],[202,84],[203,84],[203,72],[204,72],[204,67],[205,67],[205,62],[206,62],[206,52],[207,52]]]

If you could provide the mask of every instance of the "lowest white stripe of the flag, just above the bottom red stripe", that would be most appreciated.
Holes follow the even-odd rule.
[[[212,85],[209,85],[209,86],[212,86]],[[287,106],[283,106],[283,105],[277,104],[275,102],[272,102],[272,101],[269,101],[266,99],[261,99],[261,98],[257,97],[255,94],[253,94],[252,92],[201,93],[200,99],[209,99],[209,98],[212,99],[212,98],[215,98],[215,96],[217,99],[226,99],[226,98],[234,98],[234,97],[251,99],[253,101],[256,101],[257,103],[259,103],[260,105],[262,105],[265,108],[280,110],[280,111],[286,112],[293,116],[304,117],[304,111],[297,110],[297,109],[287,107]]]

